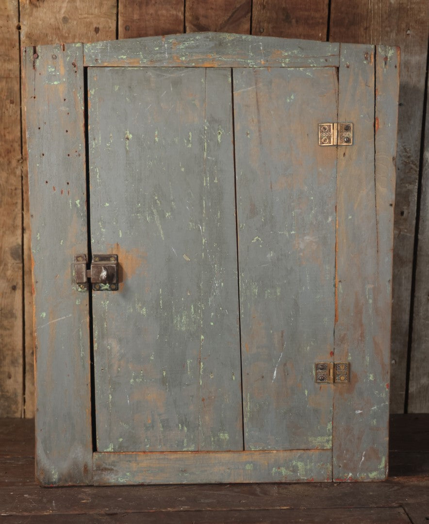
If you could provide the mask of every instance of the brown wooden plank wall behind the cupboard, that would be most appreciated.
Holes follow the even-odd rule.
[[[20,111],[23,89],[20,46],[209,30],[401,47],[391,411],[429,411],[426,378],[429,359],[425,357],[429,340],[429,170],[427,152],[424,156],[422,151],[427,91],[426,0],[346,3],[219,0],[207,4],[199,0],[3,0],[0,29],[1,417],[34,416],[31,257],[26,143],[22,133],[25,122]],[[428,141],[426,137],[426,148]]]

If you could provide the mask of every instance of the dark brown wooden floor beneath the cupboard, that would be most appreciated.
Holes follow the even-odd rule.
[[[0,521],[423,523],[429,441],[418,435],[427,420],[391,420],[393,449],[400,451],[391,452],[386,482],[41,488],[34,481],[34,421],[0,419]]]

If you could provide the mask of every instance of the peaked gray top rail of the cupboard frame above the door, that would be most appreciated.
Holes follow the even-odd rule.
[[[338,44],[196,33],[84,45],[87,66],[337,67]]]

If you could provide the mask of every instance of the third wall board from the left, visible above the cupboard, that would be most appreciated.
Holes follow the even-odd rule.
[[[183,32],[183,0],[120,0],[118,38]]]

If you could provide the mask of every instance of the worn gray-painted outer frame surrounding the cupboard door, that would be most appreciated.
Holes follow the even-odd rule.
[[[355,143],[347,154],[344,148],[337,148],[335,359],[351,358],[352,372],[350,384],[328,386],[334,387],[332,451],[305,450],[313,455],[306,459],[309,467],[304,474],[298,474],[303,464],[300,450],[160,453],[168,455],[170,468],[177,468],[173,482],[386,478],[399,49],[200,33],[28,47],[23,49],[23,64],[35,297],[38,482],[45,486],[147,483],[142,470],[145,461],[155,457],[153,453],[94,453],[89,298],[73,292],[70,282],[74,254],[85,253],[88,242],[84,70],[130,66],[338,68],[338,122],[355,125]],[[368,114],[373,111],[372,136],[359,137],[363,104]],[[354,211],[351,215],[350,210]],[[350,243],[358,246],[351,258],[342,249]],[[355,270],[358,276],[348,279]],[[358,377],[367,378],[356,387]],[[231,473],[228,462],[234,460],[234,453],[239,454],[237,464],[243,467]],[[258,453],[260,459],[253,460],[262,467],[246,469],[248,453]],[[190,476],[180,474],[184,454],[186,461],[193,455],[197,457],[191,462],[199,461]],[[296,471],[283,467],[284,454],[297,455]],[[218,472],[211,463],[220,464]],[[326,465],[320,468],[320,478],[310,473],[313,463]],[[273,476],[276,467],[280,474]],[[167,482],[163,474],[153,475],[150,481]]]

